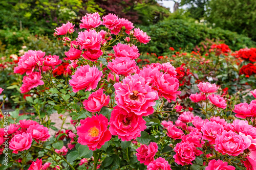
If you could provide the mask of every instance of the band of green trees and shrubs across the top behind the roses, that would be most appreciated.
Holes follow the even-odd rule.
[[[161,55],[169,46],[192,50],[206,38],[224,40],[232,50],[255,46],[253,0],[175,2],[180,8],[172,13],[156,0],[2,0],[0,55],[18,55],[23,45],[54,54],[54,29],[67,21],[78,27],[82,16],[94,12],[114,13],[147,32],[152,41],[140,46],[142,53]]]

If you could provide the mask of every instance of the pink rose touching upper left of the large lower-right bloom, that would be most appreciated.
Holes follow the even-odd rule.
[[[203,139],[208,140],[210,144],[215,144],[217,135],[221,135],[224,127],[216,122],[208,122],[202,128]]]

